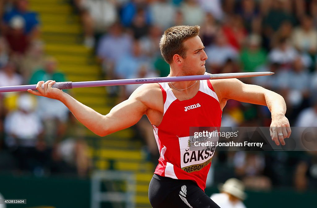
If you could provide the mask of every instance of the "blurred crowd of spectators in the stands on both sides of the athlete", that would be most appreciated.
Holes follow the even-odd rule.
[[[107,79],[167,76],[169,65],[159,51],[162,33],[173,25],[200,25],[200,37],[208,56],[207,72],[275,72],[273,76],[242,81],[281,94],[288,106],[286,116],[291,126],[317,127],[316,0],[69,0],[69,3],[80,16],[82,44],[94,49]],[[1,1],[0,7],[0,85],[36,84],[48,79],[64,81],[54,57],[47,57],[43,51],[40,20],[36,12],[29,10],[28,1]],[[136,87],[108,87],[107,91],[121,101]],[[36,103],[41,105],[35,107]],[[6,157],[15,160],[19,170],[43,174],[67,172],[62,169],[69,167],[72,169],[69,171],[79,175],[87,174],[87,145],[82,135],[69,133],[76,122],[65,106],[25,93],[1,94],[0,104],[4,138],[0,150],[10,153]],[[230,100],[223,111],[222,126],[269,126],[270,121],[267,107]],[[149,153],[157,155],[152,126],[146,117],[137,128],[144,133]],[[63,148],[72,151],[62,151]],[[45,164],[48,161],[50,164]],[[217,166],[211,171],[213,180],[223,182],[236,177],[259,190],[290,184],[299,191],[317,187],[315,152],[219,152],[213,163]],[[2,161],[0,168],[8,168],[8,164]]]

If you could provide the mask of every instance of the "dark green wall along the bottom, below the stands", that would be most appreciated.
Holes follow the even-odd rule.
[[[0,174],[0,192],[6,199],[27,199],[27,205],[7,205],[7,208],[40,205],[56,208],[90,207],[89,180]],[[211,195],[218,190],[210,187],[205,192]],[[275,189],[271,192],[247,193],[247,208],[317,208],[317,192],[298,193],[292,189]]]

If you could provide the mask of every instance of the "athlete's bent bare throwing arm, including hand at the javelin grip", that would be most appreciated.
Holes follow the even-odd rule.
[[[146,91],[145,87],[138,88],[129,99],[113,107],[107,115],[102,115],[80,103],[67,93],[57,88],[52,88],[54,83],[55,81],[52,80],[45,82],[43,89],[41,86],[43,81],[40,81],[36,86],[38,91],[28,91],[34,95],[60,100],[78,121],[98,136],[106,136],[134,125],[149,109],[147,104],[145,104],[146,102],[142,100],[145,95],[151,96],[151,93],[144,92]]]

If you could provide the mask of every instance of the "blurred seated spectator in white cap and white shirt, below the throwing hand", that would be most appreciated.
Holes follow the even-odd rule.
[[[4,120],[5,143],[16,158],[19,170],[40,170],[48,157],[41,139],[42,122],[34,111],[35,100],[23,93],[17,105],[18,110],[10,112]]]

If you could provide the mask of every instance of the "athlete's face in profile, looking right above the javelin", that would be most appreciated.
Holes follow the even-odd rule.
[[[183,42],[186,50],[186,58],[182,64],[183,75],[202,75],[206,71],[205,62],[208,58],[204,51],[204,44],[199,36],[187,39]]]

